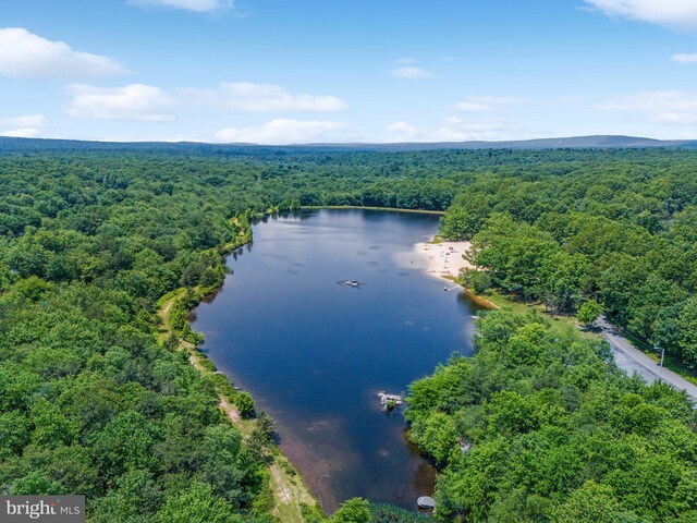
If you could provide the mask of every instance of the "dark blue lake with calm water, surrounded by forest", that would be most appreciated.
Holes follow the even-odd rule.
[[[276,419],[281,448],[327,511],[362,496],[416,509],[435,471],[408,445],[404,393],[457,351],[476,306],[413,251],[438,216],[314,210],[269,218],[230,256],[233,273],[196,309],[208,357]],[[360,288],[339,284],[357,280]]]

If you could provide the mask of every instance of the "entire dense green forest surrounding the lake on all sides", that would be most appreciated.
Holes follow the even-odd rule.
[[[5,151],[2,490],[85,494],[90,521],[272,521],[272,443],[244,439],[225,421],[220,384],[158,339],[155,314],[171,291],[219,284],[225,248],[271,209],[453,204],[443,233],[474,238],[492,284],[563,313],[597,301],[619,325],[695,363],[696,160],[681,150]],[[179,330],[188,305],[176,305]],[[563,518],[590,499],[620,514],[608,521],[670,521],[694,509],[685,400],[623,378],[602,346],[551,339],[539,321],[492,315],[478,356],[439,369],[432,380],[443,387],[415,385],[414,437],[445,471],[438,518],[517,521],[505,519],[517,508],[529,521],[582,521]],[[344,513],[353,509],[366,513]]]

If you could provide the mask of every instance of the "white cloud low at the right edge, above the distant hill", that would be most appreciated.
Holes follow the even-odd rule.
[[[645,92],[608,101],[599,108],[639,113],[661,124],[697,124],[697,92]]]

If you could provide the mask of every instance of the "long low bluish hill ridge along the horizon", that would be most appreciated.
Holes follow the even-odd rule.
[[[609,149],[609,148],[683,148],[697,149],[697,141],[652,139],[635,136],[572,136],[564,138],[538,138],[508,142],[439,142],[395,144],[306,144],[264,146],[256,144],[207,144],[196,142],[88,142],[77,139],[14,138],[0,136],[0,154],[40,151],[162,151],[180,154],[256,155],[315,153],[315,151],[414,151],[443,149]]]

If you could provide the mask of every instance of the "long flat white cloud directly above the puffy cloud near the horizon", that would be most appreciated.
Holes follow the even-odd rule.
[[[292,95],[285,88],[249,82],[221,82],[216,89],[182,89],[184,97],[198,104],[239,111],[333,112],[348,108],[334,96]]]

